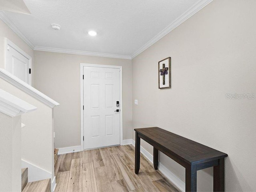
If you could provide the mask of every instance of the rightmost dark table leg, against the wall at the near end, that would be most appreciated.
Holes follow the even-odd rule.
[[[213,167],[213,191],[224,191],[224,158]]]

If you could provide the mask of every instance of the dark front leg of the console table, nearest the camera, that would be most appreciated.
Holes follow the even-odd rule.
[[[196,166],[191,165],[186,168],[186,192],[196,191]]]

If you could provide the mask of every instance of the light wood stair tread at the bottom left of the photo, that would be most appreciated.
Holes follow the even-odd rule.
[[[22,192],[51,192],[51,180],[44,179],[26,184]]]

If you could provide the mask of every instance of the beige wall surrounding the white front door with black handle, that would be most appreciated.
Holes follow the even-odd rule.
[[[123,137],[132,137],[131,60],[42,51],[34,56],[34,87],[60,103],[54,108],[56,148],[80,145],[80,63],[122,66]]]

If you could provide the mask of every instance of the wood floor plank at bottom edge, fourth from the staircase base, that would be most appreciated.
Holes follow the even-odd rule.
[[[110,180],[105,170],[105,166],[94,168],[97,188],[99,192],[113,191]]]

